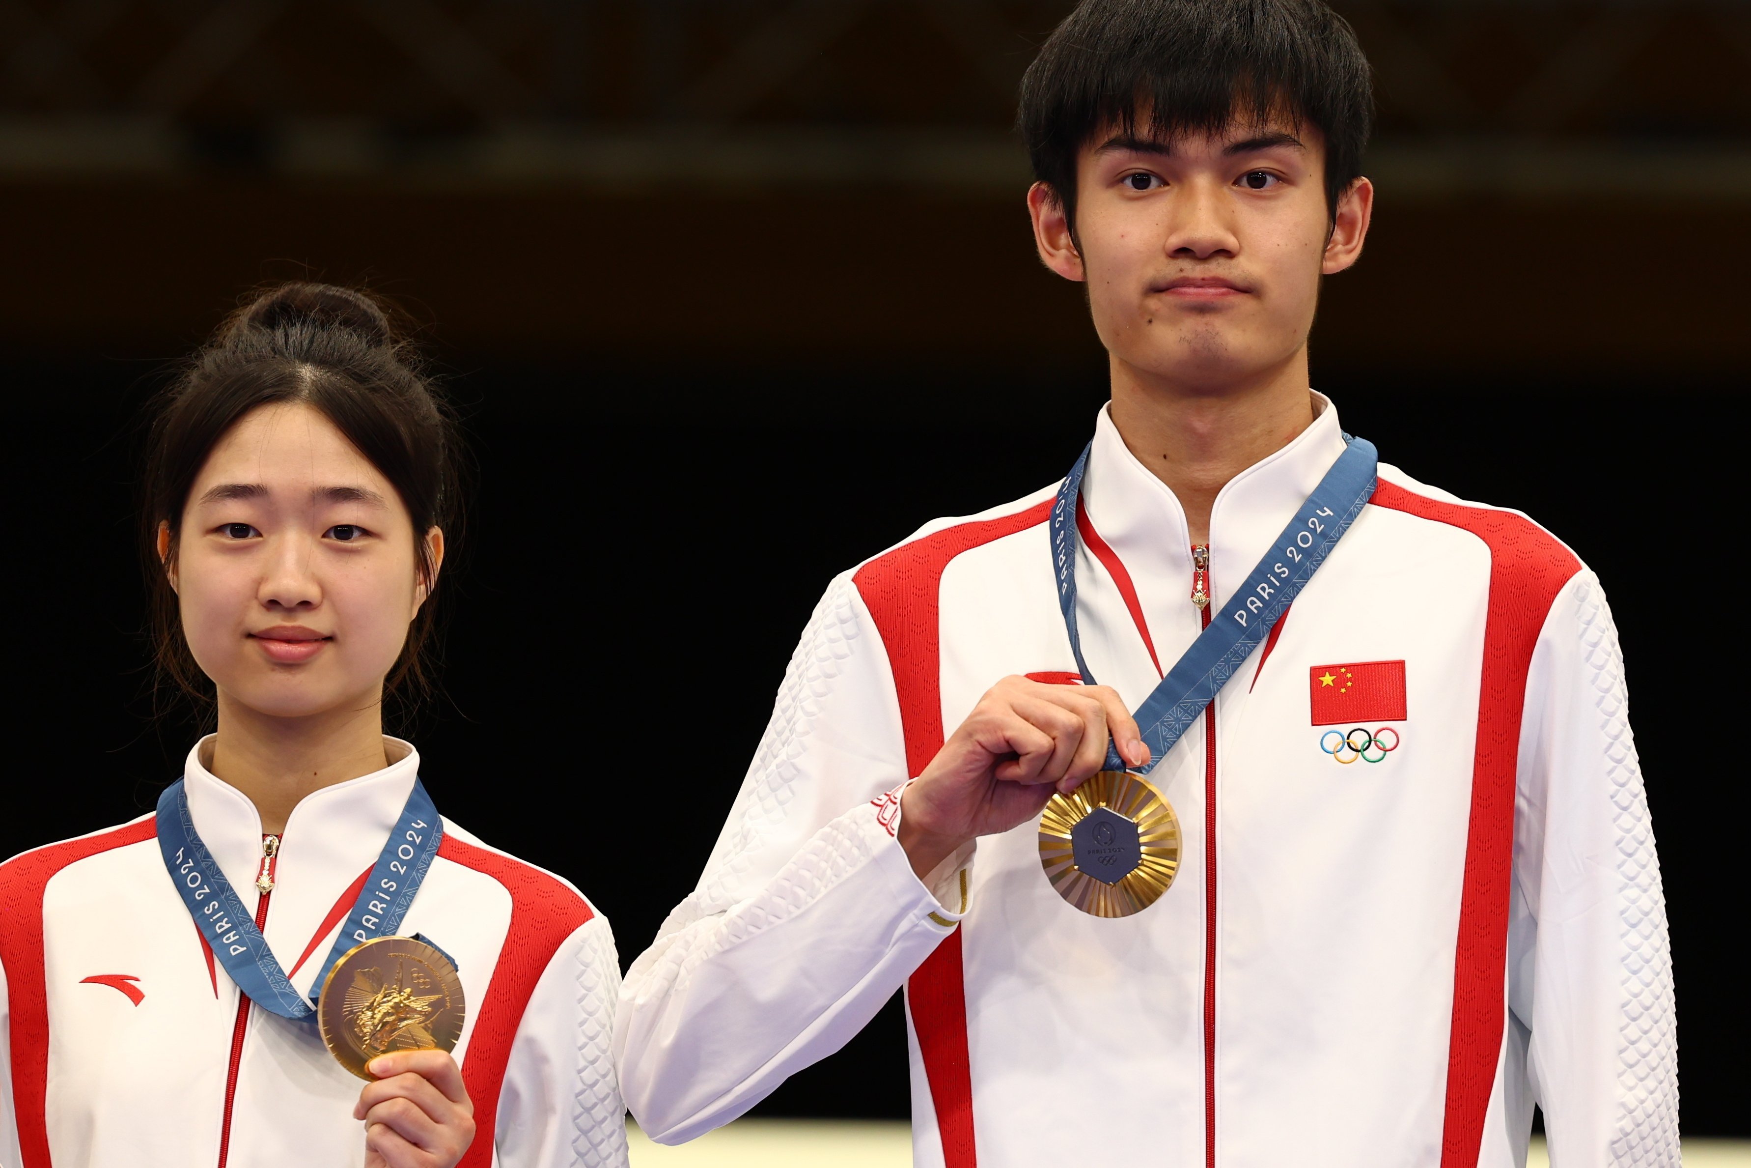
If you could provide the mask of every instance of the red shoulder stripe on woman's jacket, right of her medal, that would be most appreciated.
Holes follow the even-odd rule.
[[[438,855],[499,881],[511,893],[511,925],[487,996],[475,1012],[475,1031],[462,1054],[462,1086],[475,1101],[475,1142],[457,1168],[490,1168],[499,1091],[511,1059],[511,1040],[529,996],[559,947],[594,914],[583,897],[555,876],[520,860],[445,835]]]

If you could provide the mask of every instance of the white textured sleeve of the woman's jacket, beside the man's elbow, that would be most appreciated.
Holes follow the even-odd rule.
[[[592,916],[548,960],[511,1040],[496,1128],[503,1168],[627,1168],[627,1108],[609,1058],[620,958]]]

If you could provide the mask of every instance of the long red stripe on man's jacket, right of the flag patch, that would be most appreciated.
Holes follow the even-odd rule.
[[[1469,531],[1490,550],[1478,744],[1471,770],[1466,883],[1453,958],[1441,1168],[1474,1168],[1506,1026],[1508,905],[1515,856],[1520,716],[1532,650],[1550,606],[1581,562],[1523,515],[1441,503],[1382,482],[1375,506]]]

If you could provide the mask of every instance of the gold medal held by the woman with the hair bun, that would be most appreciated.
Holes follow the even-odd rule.
[[[366,1063],[380,1054],[454,1051],[466,1016],[455,965],[413,937],[354,946],[329,970],[317,998],[322,1042],[341,1066],[366,1080]]]

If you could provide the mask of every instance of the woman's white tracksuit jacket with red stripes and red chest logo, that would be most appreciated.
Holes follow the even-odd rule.
[[[418,772],[308,795],[285,825],[266,905],[254,804],[189,753],[196,830],[308,991]],[[443,792],[438,792],[443,802]],[[443,821],[401,926],[457,961],[455,1058],[475,1103],[469,1168],[623,1166],[609,1065],[620,982],[608,921],[566,881]],[[263,916],[264,914],[264,916]],[[0,1164],[257,1168],[364,1163],[364,1087],[313,1019],[254,1009],[177,895],[154,816],[0,865]]]

